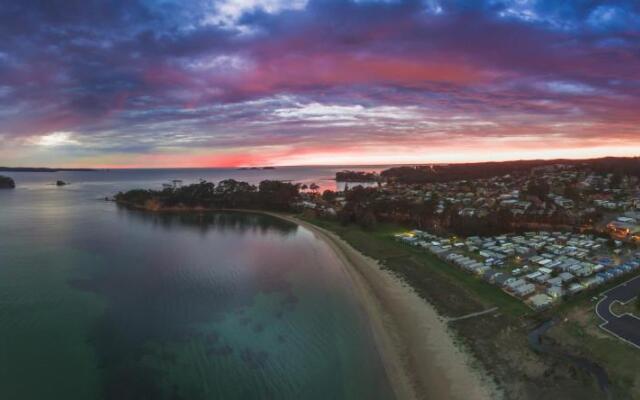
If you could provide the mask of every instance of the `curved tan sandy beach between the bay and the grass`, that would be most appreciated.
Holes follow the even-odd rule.
[[[489,377],[460,350],[444,319],[407,284],[337,235],[295,217],[274,214],[313,232],[343,262],[359,292],[396,398],[501,398]]]

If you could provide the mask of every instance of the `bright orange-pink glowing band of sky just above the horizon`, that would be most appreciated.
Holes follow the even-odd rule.
[[[150,154],[105,157],[68,167],[93,168],[237,168],[305,165],[395,165],[431,163],[469,163],[533,159],[590,159],[640,156],[640,142],[627,146],[584,148],[514,148],[511,146],[468,145],[451,147],[387,146],[385,149],[358,147],[305,147],[301,149],[265,149],[228,154]],[[92,161],[92,162],[90,162]],[[96,162],[98,161],[98,162]]]

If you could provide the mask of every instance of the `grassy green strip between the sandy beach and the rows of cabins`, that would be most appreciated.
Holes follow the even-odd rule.
[[[584,371],[528,347],[530,329],[556,317],[562,322],[550,331],[550,340],[602,365],[611,378],[614,399],[640,399],[640,352],[607,336],[597,325],[592,297],[605,289],[583,293],[546,313],[534,313],[482,279],[396,241],[393,235],[404,231],[400,226],[380,224],[373,230],[363,230],[308,215],[299,217],[338,234],[357,250],[381,261],[441,315],[456,317],[497,306],[497,315],[455,322],[450,327],[464,349],[491,371],[506,398],[605,398]]]

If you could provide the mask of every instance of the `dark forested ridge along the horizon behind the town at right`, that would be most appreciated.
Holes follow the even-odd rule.
[[[387,181],[404,184],[449,182],[530,173],[534,168],[556,164],[584,166],[600,174],[640,176],[640,158],[600,158],[594,160],[531,160],[508,162],[484,162],[451,165],[404,166],[382,171]]]

